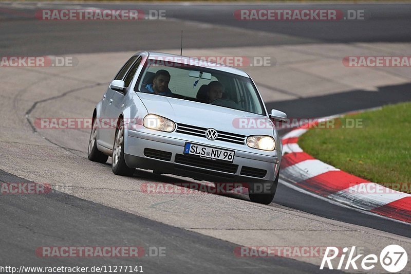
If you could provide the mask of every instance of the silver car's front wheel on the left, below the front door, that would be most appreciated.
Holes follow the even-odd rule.
[[[111,155],[111,170],[116,175],[132,176],[136,169],[129,168],[124,160],[124,125],[120,121],[116,129],[116,135],[113,144],[113,154]]]

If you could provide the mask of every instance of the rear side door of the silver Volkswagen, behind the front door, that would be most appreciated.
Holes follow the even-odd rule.
[[[120,69],[120,71],[117,73],[116,77],[113,80],[123,80],[125,78],[125,75],[129,71],[130,67],[136,62],[138,58],[139,56],[133,56],[132,58],[130,58],[123,65],[123,67]],[[111,138],[111,135],[113,135],[112,121],[117,119],[118,115],[112,116],[115,113],[112,111],[113,107],[111,107],[111,105],[113,105],[114,96],[117,93],[119,92],[111,89],[110,85],[108,85],[107,91],[103,95],[103,100],[102,100],[101,110],[100,110],[100,119],[101,119],[102,125],[101,125],[101,129],[99,129],[98,131],[98,144],[108,149],[113,149],[113,142],[112,142],[113,139]]]

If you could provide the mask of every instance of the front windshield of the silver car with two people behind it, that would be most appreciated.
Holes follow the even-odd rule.
[[[210,66],[148,60],[134,90],[265,115],[250,78]]]

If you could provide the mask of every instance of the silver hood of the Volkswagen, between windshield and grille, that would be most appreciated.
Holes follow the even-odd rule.
[[[241,135],[273,136],[273,125],[265,116],[236,109],[154,94],[138,93],[148,113],[176,123],[213,128]],[[276,137],[276,136],[275,136]]]

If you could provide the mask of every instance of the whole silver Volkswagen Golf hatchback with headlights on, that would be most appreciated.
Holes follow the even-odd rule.
[[[92,115],[91,161],[117,175],[136,168],[223,185],[239,182],[252,202],[272,202],[282,143],[250,76],[190,57],[138,52],[111,81]]]

